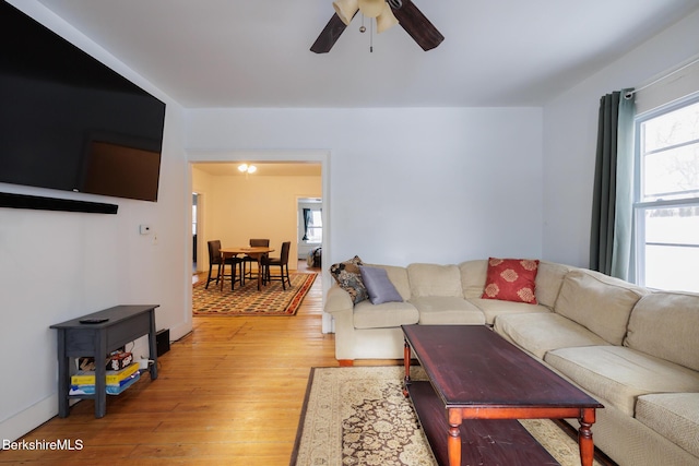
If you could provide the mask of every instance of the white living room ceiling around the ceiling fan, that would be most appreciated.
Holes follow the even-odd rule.
[[[332,0],[39,0],[188,108],[540,106],[699,9],[697,0],[415,0],[423,51],[356,16],[309,51]],[[620,83],[636,85],[638,83]]]

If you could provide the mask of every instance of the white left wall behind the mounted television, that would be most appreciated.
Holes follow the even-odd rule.
[[[191,328],[182,259],[191,192],[182,109],[40,3],[12,3],[167,104],[157,203],[0,183],[2,192],[119,206],[117,215],[0,208],[0,439],[14,440],[58,413],[49,325],[116,304],[158,303],[158,328],[169,327],[171,337]],[[152,226],[156,246],[154,235],[139,235],[140,224]]]

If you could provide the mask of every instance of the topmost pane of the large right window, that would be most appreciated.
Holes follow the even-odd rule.
[[[643,152],[699,139],[699,103],[647,121],[642,134]]]

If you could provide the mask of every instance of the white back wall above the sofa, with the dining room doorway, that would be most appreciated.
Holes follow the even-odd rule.
[[[542,253],[541,109],[198,109],[187,119],[197,162],[208,151],[329,151],[327,265]]]

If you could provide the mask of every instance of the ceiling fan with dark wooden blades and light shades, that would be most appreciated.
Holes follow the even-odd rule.
[[[380,5],[378,7],[379,11],[388,8],[388,16],[391,16],[393,21],[398,20],[398,24],[410,34],[423,50],[431,50],[445,40],[445,36],[437,31],[423,12],[415,7],[412,0],[388,0],[387,4],[384,4],[384,1],[386,0],[337,0],[333,2],[335,14],[332,15],[310,50],[316,53],[329,52],[357,11],[360,10],[362,13],[364,13],[365,9],[367,11],[375,9],[377,2]],[[363,3],[367,7],[363,7]],[[394,16],[394,19],[392,16]],[[380,16],[374,17],[377,17],[378,24]],[[379,28],[380,27],[379,25]],[[390,27],[390,25],[388,27]]]

